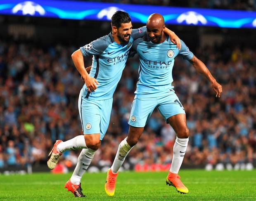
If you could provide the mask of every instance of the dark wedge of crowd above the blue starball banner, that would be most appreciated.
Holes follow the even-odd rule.
[[[256,0],[88,0],[113,3],[162,5],[235,10],[256,10]]]

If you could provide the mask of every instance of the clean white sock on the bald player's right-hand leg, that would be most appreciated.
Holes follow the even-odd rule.
[[[178,174],[185,152],[187,150],[187,143],[188,138],[176,137],[175,144],[173,146],[173,160],[170,168],[171,173]]]

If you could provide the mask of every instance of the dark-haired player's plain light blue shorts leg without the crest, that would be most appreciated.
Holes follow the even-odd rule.
[[[100,140],[102,140],[109,127],[113,98],[102,100],[100,102],[101,102]]]

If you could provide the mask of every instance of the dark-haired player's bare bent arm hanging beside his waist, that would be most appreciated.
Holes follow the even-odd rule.
[[[84,66],[84,62],[83,62],[83,54],[81,52],[81,50],[76,50],[75,52],[73,52],[73,54],[71,55],[73,63],[76,66],[76,69],[78,70],[78,72],[81,74],[81,76],[83,77],[83,80],[85,81],[85,85],[88,88],[89,92],[92,92],[94,90],[97,89],[97,84],[99,84],[97,82],[97,80],[95,78],[92,78],[89,76],[89,74],[87,73],[85,66]]]

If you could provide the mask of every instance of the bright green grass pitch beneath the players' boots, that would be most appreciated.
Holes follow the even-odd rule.
[[[71,174],[0,175],[0,200],[87,200],[87,201],[156,201],[156,200],[253,200],[256,201],[256,170],[210,171],[181,170],[180,176],[189,189],[180,194],[166,185],[166,172],[119,173],[116,193],[108,197],[104,191],[106,173],[85,173],[82,179],[86,198],[75,198],[64,189]]]

